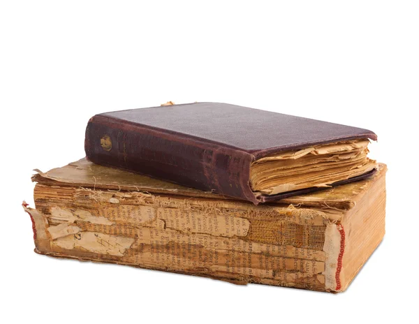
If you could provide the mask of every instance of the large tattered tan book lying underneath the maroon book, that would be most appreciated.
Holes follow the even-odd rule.
[[[24,209],[48,256],[341,292],[383,238],[385,171],[256,206],[82,159],[38,171]]]

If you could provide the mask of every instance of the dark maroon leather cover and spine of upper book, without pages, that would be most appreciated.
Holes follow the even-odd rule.
[[[100,165],[258,204],[306,189],[256,197],[249,186],[253,161],[357,138],[376,140],[376,134],[227,103],[189,103],[96,115],[87,124],[84,148],[87,158]]]

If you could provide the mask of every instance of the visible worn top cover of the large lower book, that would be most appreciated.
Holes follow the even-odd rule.
[[[351,184],[344,184],[334,188],[294,196],[273,202],[271,205],[304,205],[312,207],[332,207],[337,209],[351,209],[358,196],[369,188],[387,170],[386,165],[378,163],[376,175],[369,179]],[[200,191],[198,189],[165,182],[146,175],[128,172],[117,168],[109,168],[80,159],[61,168],[54,168],[47,172],[36,170],[37,175],[32,178],[40,184],[56,186],[73,186],[93,190],[136,191],[165,196],[182,196],[185,199],[218,199],[235,200],[234,198],[217,193]],[[237,200],[239,201],[239,200]],[[242,200],[240,200],[242,201]],[[248,202],[247,202],[248,203]]]

